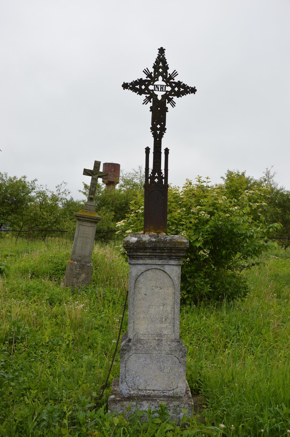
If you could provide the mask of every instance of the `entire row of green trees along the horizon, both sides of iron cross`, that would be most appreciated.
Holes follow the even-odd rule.
[[[201,178],[197,178],[196,184],[188,180],[182,189],[171,186],[168,204],[169,229],[172,232],[186,232],[185,228],[192,229],[194,225],[189,219],[192,212],[182,209],[185,208],[182,206],[174,212],[174,219],[179,224],[184,222],[184,227],[171,229],[173,199],[176,205],[181,205],[186,198],[190,204],[194,203],[194,208],[199,209],[204,202],[200,193],[216,198],[216,193],[219,191],[226,197],[226,202],[223,198],[218,200],[217,212],[219,208],[224,210],[228,208],[229,211],[225,214],[229,215],[225,217],[232,217],[230,208],[233,206],[228,202],[238,202],[241,196],[247,196],[249,202],[245,208],[249,209],[251,220],[261,222],[263,225],[279,223],[280,226],[275,228],[275,236],[290,238],[290,191],[279,187],[274,177],[275,173],[271,173],[271,169],[266,169],[263,177],[259,179],[246,176],[245,172],[228,170],[222,177],[222,184],[211,184],[208,179],[202,183]],[[143,183],[144,173],[142,167],[138,167],[137,170],[121,172],[120,183],[115,190],[106,190],[104,184],[97,185],[96,211],[102,217],[102,221],[98,224],[99,231],[106,232],[108,229],[129,231],[133,216],[138,217],[138,220],[135,220],[132,230],[142,229]],[[190,190],[188,187],[191,187]],[[70,196],[65,182],[61,182],[54,191],[51,191],[47,186],[37,184],[36,179],[29,181],[26,176],[18,178],[0,173],[0,229],[27,229],[30,223],[31,229],[62,229],[74,232],[76,224],[74,213],[82,209],[89,192],[89,185],[83,183],[83,189],[79,192],[84,198],[75,200]],[[183,216],[185,218],[182,218]],[[116,227],[116,223],[122,220],[128,226]]]

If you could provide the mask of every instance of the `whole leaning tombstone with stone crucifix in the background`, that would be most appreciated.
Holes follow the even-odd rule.
[[[94,247],[96,226],[101,217],[96,215],[95,195],[98,178],[106,179],[108,173],[100,172],[100,161],[95,161],[93,170],[84,169],[85,176],[91,176],[88,200],[82,211],[75,213],[77,225],[72,246],[72,255],[65,271],[65,287],[89,285],[92,277],[92,250]]]

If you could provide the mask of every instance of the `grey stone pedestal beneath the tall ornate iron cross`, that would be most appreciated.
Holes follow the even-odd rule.
[[[181,258],[188,241],[132,234],[123,246],[130,264],[128,331],[120,347],[119,401],[112,393],[109,409],[121,412],[132,399],[145,398],[143,404],[155,408],[167,399],[171,412],[182,405],[180,420],[181,408],[190,414],[193,406],[185,378],[187,352],[179,337]]]

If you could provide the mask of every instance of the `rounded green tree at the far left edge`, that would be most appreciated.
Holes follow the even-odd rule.
[[[0,173],[0,229],[22,229],[29,221],[29,205],[37,179],[29,182],[26,176]]]

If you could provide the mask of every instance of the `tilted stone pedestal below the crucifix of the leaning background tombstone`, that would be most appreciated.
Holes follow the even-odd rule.
[[[87,202],[89,203],[89,202]],[[85,204],[81,212],[77,212],[77,226],[72,246],[71,259],[65,271],[64,286],[82,287],[89,285],[92,277],[92,250],[94,247],[96,226],[101,218],[92,210],[94,205]]]

